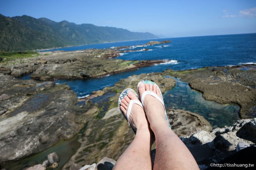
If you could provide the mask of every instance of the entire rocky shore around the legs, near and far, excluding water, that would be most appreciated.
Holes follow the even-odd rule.
[[[234,153],[234,146],[240,141],[255,145],[255,65],[133,75],[83,99],[77,99],[68,85],[50,81],[56,78],[97,78],[163,62],[109,59],[119,54],[118,48],[42,52],[37,58],[1,66],[0,168],[9,167],[10,161],[39,153],[62,139],[73,137],[81,144],[75,154],[70,155],[69,161],[59,164],[59,169],[75,170],[85,165],[87,168],[93,165],[91,169],[94,169],[102,166],[104,157],[117,160],[134,137],[120,114],[117,99],[124,88],[136,89],[137,83],[143,79],[157,83],[165,94],[177,84],[172,77],[181,78],[192,89],[202,92],[207,100],[234,103],[241,107],[241,120],[230,127],[214,130],[199,114],[166,108],[173,131],[202,167]],[[30,73],[32,80],[17,79]],[[42,162],[31,163],[30,166],[38,163]]]

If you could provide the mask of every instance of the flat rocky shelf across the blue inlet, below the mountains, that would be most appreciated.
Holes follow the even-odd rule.
[[[158,43],[168,42],[162,41]],[[144,44],[142,46],[148,45]],[[131,50],[131,48],[131,46],[125,46],[68,52],[40,52],[39,57],[0,64],[0,74],[12,75],[15,78],[19,78],[32,73],[32,79],[41,81],[99,78],[166,62],[165,60],[130,61],[112,59],[120,56],[121,52],[148,51],[148,49],[144,48],[142,50]],[[120,49],[124,50],[120,51]]]

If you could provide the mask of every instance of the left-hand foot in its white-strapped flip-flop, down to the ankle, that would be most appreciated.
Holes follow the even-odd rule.
[[[124,95],[122,95],[124,93]],[[120,110],[125,116],[125,118],[128,118],[128,123],[132,127],[132,129],[136,132],[138,129],[148,129],[148,122],[145,115],[145,112],[143,110],[143,107],[141,107],[138,102],[140,103],[136,92],[132,89],[126,89],[122,92],[120,95],[120,99],[118,102],[120,106]],[[127,95],[126,95],[127,94]],[[137,103],[133,103],[132,106],[129,104],[136,100]],[[140,103],[141,104],[141,103]],[[129,113],[128,108],[131,107],[131,111]],[[128,115],[129,114],[129,115]]]

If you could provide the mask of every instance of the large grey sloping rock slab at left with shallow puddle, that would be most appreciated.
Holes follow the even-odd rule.
[[[77,96],[67,85],[0,74],[0,96],[0,163],[38,153],[81,128]]]

